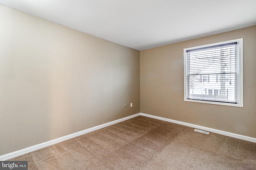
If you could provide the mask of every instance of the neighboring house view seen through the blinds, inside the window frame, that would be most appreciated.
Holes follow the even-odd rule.
[[[191,51],[188,98],[235,102],[236,45]]]

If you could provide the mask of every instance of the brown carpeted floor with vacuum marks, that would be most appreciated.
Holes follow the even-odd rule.
[[[256,170],[256,143],[138,116],[10,160],[29,170]]]

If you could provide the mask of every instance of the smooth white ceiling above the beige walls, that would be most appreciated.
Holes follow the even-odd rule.
[[[256,25],[256,0],[0,0],[137,50]]]

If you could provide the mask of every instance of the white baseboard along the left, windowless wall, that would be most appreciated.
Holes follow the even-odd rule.
[[[111,121],[111,122],[108,122],[108,123],[104,123],[102,125],[98,125],[98,126],[95,126],[95,127],[91,127],[89,129],[85,129],[85,130],[82,130],[82,131],[79,131],[79,132],[76,132],[76,133],[72,133],[70,135],[66,135],[66,136],[63,136],[63,137],[59,137],[57,139],[53,139],[51,141],[47,141],[47,142],[44,142],[44,143],[40,143],[38,145],[34,145],[32,147],[28,147],[28,148],[24,148],[24,149],[21,149],[21,150],[17,150],[17,151],[14,151],[14,152],[10,152],[8,154],[4,154],[4,155],[1,155],[0,156],[0,161],[3,161],[3,160],[8,160],[10,158],[14,158],[16,156],[20,156],[22,154],[26,154],[28,152],[32,152],[32,151],[35,151],[35,150],[38,150],[38,149],[41,149],[41,148],[44,148],[44,147],[48,147],[50,145],[54,145],[56,143],[60,143],[62,141],[66,141],[68,139],[71,139],[71,138],[74,138],[74,137],[78,137],[80,135],[84,135],[86,133],[89,133],[89,132],[92,132],[92,131],[96,131],[98,129],[101,129],[101,128],[104,128],[104,127],[107,127],[107,126],[110,126],[110,125],[114,125],[116,123],[119,123],[119,122],[122,122],[122,121],[125,121],[125,120],[128,120],[128,119],[131,119],[133,117],[136,117],[136,116],[139,116],[140,113],[137,113],[135,115],[131,115],[131,116],[128,116],[128,117],[124,117],[122,119],[118,119],[118,120],[115,120],[115,121]]]

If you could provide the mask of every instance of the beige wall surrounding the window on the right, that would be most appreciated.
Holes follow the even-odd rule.
[[[184,102],[183,49],[244,38],[244,107]],[[140,52],[140,112],[256,137],[256,26]]]

